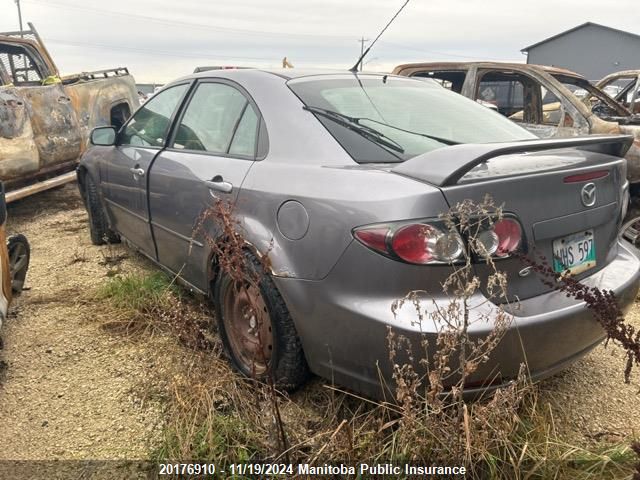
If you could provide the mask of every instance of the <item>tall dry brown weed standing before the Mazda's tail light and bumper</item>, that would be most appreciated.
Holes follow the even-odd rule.
[[[407,338],[391,329],[387,336],[396,400],[401,407],[398,433],[402,444],[418,446],[418,451],[410,454],[409,460],[426,457],[431,461],[454,461],[472,468],[490,446],[506,440],[517,425],[514,412],[525,393],[523,367],[518,379],[487,403],[469,405],[464,400],[467,379],[488,361],[512,321],[512,315],[502,305],[507,298],[506,275],[496,268],[478,240],[482,228],[502,217],[502,208],[489,196],[479,204],[466,200],[443,214],[441,220],[446,228],[459,232],[466,240],[462,261],[451,265],[452,272],[442,284],[443,292],[449,296],[448,303],[443,306],[432,300],[429,308],[424,308],[423,299],[429,292],[413,291],[392,305],[392,312],[397,317],[399,310],[410,304],[420,330],[429,323],[433,325],[431,330],[437,332],[434,345],[429,344],[425,334],[422,335],[422,358],[417,364]],[[475,275],[473,262],[477,258],[490,267],[491,273],[483,281]],[[472,320],[475,307],[471,298],[481,286],[495,305],[490,312],[475,312]],[[469,329],[473,322],[490,324],[493,328],[485,337],[472,338]],[[408,359],[403,365],[396,361],[399,351],[405,352]],[[426,374],[421,377],[415,365]],[[429,452],[419,451],[425,445],[425,435],[431,437],[427,442],[431,445]]]

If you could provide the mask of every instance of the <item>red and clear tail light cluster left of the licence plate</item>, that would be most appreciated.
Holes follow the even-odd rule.
[[[457,263],[465,254],[460,234],[439,222],[370,225],[356,228],[353,236],[382,255],[417,265]],[[505,258],[521,246],[522,228],[516,219],[502,218],[480,230],[477,241],[481,256]]]

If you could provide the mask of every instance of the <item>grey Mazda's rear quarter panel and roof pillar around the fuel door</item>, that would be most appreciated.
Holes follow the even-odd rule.
[[[324,278],[353,241],[354,227],[446,211],[438,189],[354,162],[302,109],[284,79],[245,75],[243,86],[267,125],[269,152],[249,171],[235,211],[247,241],[260,253],[269,252],[276,275]],[[278,211],[287,201],[299,202],[308,217],[298,240],[283,235],[278,224]]]

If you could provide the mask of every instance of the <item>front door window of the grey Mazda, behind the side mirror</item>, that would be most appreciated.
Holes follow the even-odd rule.
[[[155,94],[138,110],[120,133],[118,144],[140,147],[163,147],[171,117],[186,92],[188,84],[176,85]]]

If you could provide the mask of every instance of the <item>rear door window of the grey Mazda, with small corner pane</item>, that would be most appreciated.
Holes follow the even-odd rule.
[[[238,89],[198,86],[180,121],[173,148],[254,157],[258,116]]]

